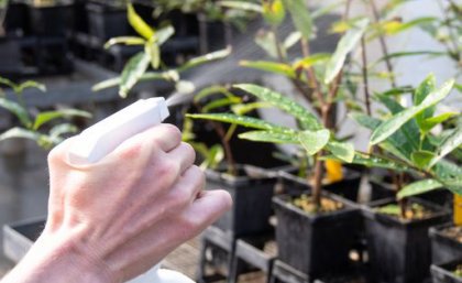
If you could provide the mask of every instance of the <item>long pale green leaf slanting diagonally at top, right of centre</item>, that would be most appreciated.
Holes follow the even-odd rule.
[[[369,24],[367,19],[358,21],[353,29],[350,29],[345,35],[342,36],[337,50],[326,66],[324,84],[328,85],[337,77],[342,69],[346,59],[346,55],[356,46],[358,42],[363,36]]]

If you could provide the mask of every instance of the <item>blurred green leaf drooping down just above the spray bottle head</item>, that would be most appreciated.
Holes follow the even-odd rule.
[[[130,58],[129,63],[127,63],[125,67],[123,68],[120,78],[119,95],[122,98],[125,98],[132,87],[136,85],[141,76],[150,66],[150,56],[143,52],[140,52]]]

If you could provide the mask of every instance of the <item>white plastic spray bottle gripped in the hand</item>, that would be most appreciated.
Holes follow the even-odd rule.
[[[68,154],[70,164],[92,164],[130,137],[160,124],[169,116],[164,98],[141,99],[82,131]],[[184,274],[160,269],[160,264],[130,283],[194,283]]]

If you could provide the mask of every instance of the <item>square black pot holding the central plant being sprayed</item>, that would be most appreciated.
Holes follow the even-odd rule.
[[[350,269],[349,253],[356,243],[359,208],[341,197],[326,193],[324,197],[343,203],[345,208],[309,215],[289,203],[293,196],[279,195],[273,198],[279,260],[309,277],[337,274]]]

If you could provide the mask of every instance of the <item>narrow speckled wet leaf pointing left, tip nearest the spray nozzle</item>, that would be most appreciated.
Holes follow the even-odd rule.
[[[193,119],[205,119],[205,120],[212,120],[226,123],[235,123],[239,126],[243,126],[246,128],[260,129],[260,130],[268,130],[274,132],[294,132],[290,128],[276,126],[273,123],[268,123],[261,119],[246,117],[246,116],[238,116],[231,113],[210,113],[210,115],[186,115],[186,117]]]

